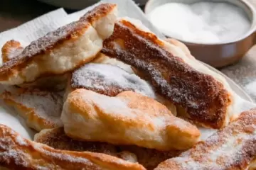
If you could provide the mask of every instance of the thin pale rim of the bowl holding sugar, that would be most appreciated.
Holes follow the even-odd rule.
[[[147,1],[146,5],[144,7],[144,13],[146,15],[146,18],[150,13],[149,6],[152,6],[151,4],[153,4],[154,1],[159,1],[159,0],[149,0],[149,1]],[[198,1],[203,1],[203,0],[198,0]],[[175,37],[173,37],[173,38],[175,38],[176,40],[180,40],[181,42],[184,42],[187,44],[192,44],[192,45],[229,45],[229,44],[233,44],[234,42],[242,41],[245,38],[250,37],[250,36],[255,36],[255,39],[256,39],[256,6],[253,6],[252,3],[250,3],[247,0],[236,0],[236,1],[240,1],[242,4],[247,6],[247,8],[250,10],[250,13],[252,13],[251,27],[245,34],[240,36],[240,38],[235,38],[234,40],[225,40],[223,42],[193,42],[193,41],[181,40],[181,39],[175,38]],[[166,1],[166,3],[168,3],[168,2]],[[166,3],[164,3],[164,4],[166,4]],[[235,5],[235,6],[237,6],[237,5]],[[241,8],[240,6],[238,6],[238,7]],[[166,35],[166,34],[164,34],[164,35],[166,37],[168,37],[168,35]]]

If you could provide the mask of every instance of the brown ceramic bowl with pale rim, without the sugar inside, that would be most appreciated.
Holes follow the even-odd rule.
[[[203,0],[149,0],[145,6],[146,16],[151,13],[154,8],[166,3],[195,3]],[[198,43],[188,40],[180,40],[186,44],[196,59],[205,62],[213,67],[225,67],[229,64],[238,62],[250,48],[256,44],[256,0],[208,0],[229,2],[242,8],[250,18],[251,27],[244,35],[236,40],[228,40],[216,43]],[[167,21],[166,21],[167,22]],[[175,37],[174,37],[175,38]]]

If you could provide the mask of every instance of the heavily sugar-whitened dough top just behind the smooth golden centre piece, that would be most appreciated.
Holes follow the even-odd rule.
[[[156,97],[146,81],[109,64],[85,64],[73,73],[71,86],[104,91],[108,96],[115,96],[122,91],[135,91],[144,96]]]

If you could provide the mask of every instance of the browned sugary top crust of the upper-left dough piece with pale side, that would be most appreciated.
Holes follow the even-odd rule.
[[[24,48],[21,54],[17,55],[13,60],[4,63],[3,66],[0,67],[0,80],[5,81],[8,79],[8,77],[14,74],[14,72],[19,72],[21,69],[33,62],[34,57],[40,57],[40,55],[47,54],[51,50],[63,45],[64,42],[72,42],[77,40],[81,35],[83,35],[83,33],[85,33],[85,30],[91,26],[89,21],[96,21],[101,16],[107,15],[106,10],[112,10],[112,8],[115,6],[116,4],[101,4],[100,6],[96,7],[99,11],[94,11],[95,9],[93,9],[92,11],[89,11],[87,14],[85,14],[84,17],[80,18],[79,21],[69,23],[66,26],[46,34],[42,38],[31,42],[30,45]],[[90,16],[90,13],[93,16]],[[85,19],[86,17],[88,18]],[[82,64],[84,64],[84,62],[78,64],[78,67],[80,67]],[[45,73],[44,75],[41,75],[41,77],[52,74],[53,73],[51,72]]]

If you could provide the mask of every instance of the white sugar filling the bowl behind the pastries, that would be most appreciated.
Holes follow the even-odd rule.
[[[151,11],[148,17],[165,35],[188,42],[235,40],[251,26],[242,8],[222,2],[164,4]]]

